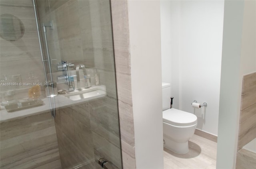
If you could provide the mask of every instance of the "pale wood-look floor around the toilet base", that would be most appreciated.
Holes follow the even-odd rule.
[[[189,152],[177,154],[164,148],[164,169],[215,169],[217,143],[198,135],[188,141]]]

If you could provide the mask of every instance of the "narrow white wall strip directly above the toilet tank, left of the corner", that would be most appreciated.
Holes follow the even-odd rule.
[[[180,15],[181,1],[161,1],[162,81],[171,84],[173,108],[180,100]]]

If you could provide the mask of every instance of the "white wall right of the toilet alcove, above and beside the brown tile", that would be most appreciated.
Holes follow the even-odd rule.
[[[256,71],[256,1],[225,1],[217,169],[235,168],[243,75]]]

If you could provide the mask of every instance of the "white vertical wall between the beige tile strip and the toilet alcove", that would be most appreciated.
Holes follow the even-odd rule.
[[[163,169],[160,1],[128,1],[137,169]]]

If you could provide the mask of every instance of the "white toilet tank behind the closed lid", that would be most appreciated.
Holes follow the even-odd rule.
[[[171,84],[162,82],[162,109],[167,110],[170,108],[171,102]]]

